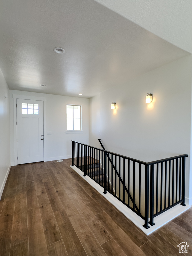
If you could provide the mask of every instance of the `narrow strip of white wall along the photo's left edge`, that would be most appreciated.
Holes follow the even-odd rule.
[[[11,166],[9,130],[9,89],[0,69],[0,198]]]

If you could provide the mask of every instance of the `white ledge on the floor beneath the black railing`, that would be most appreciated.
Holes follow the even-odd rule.
[[[79,170],[76,166],[70,166],[74,171],[76,171],[84,180],[86,180],[94,189],[96,189],[102,196],[104,196],[110,203],[112,203],[120,212],[122,212],[129,220],[131,220],[138,228],[140,228],[146,235],[151,234],[158,228],[165,225],[167,222],[171,221],[181,213],[188,210],[191,206],[187,205],[182,206],[180,204],[172,207],[166,212],[158,215],[154,218],[154,226],[150,226],[150,228],[146,229],[143,227],[144,220],[140,218],[136,213],[134,213],[131,209],[129,209],[126,205],[121,203],[117,198],[115,198],[110,193],[104,194],[104,189],[97,184],[94,180],[92,180],[89,176],[83,176],[84,173]]]

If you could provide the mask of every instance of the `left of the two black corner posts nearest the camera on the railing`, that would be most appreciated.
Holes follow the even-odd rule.
[[[144,228],[149,227],[149,165],[145,165],[145,224]]]

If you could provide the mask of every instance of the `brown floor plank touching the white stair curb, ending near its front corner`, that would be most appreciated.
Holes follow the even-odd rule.
[[[136,229],[130,221],[123,216],[117,209],[109,204],[104,197],[97,194],[92,198],[103,208],[103,210],[116,222],[116,224],[131,238],[131,240],[140,247],[149,239],[145,237],[143,232]]]

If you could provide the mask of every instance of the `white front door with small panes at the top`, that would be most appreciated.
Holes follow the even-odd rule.
[[[43,141],[43,101],[17,99],[17,163],[43,161]]]

